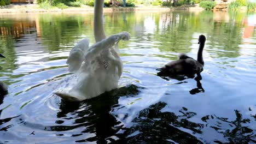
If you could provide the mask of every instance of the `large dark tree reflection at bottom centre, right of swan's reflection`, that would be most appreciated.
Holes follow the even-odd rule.
[[[193,133],[201,134],[202,124],[188,121],[187,119],[196,115],[188,112],[183,107],[181,116],[176,116],[173,112],[161,112],[167,104],[163,102],[149,106],[149,108],[139,112],[139,116],[133,119],[135,126],[123,128],[125,132],[119,134],[119,142],[127,143],[202,143],[189,133],[178,128],[190,129]],[[171,141],[170,141],[171,140]]]

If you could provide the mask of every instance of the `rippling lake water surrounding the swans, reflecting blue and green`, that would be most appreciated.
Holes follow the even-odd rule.
[[[81,102],[53,94],[73,85],[66,60],[93,35],[93,14],[0,15],[0,143],[255,143],[256,19],[246,13],[106,13],[119,44],[119,89]],[[205,67],[195,77],[159,77],[179,53]]]

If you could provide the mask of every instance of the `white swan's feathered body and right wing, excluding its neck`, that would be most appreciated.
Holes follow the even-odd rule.
[[[69,56],[79,56],[78,59],[69,58],[69,67],[79,67],[76,70],[79,76],[77,84],[69,92],[56,92],[55,94],[64,99],[84,100],[118,88],[118,80],[123,72],[118,43],[120,40],[129,39],[128,32],[121,32],[99,41],[87,50],[82,49],[81,51],[85,51],[80,66],[75,66],[75,63],[79,64],[81,59],[81,55],[76,53],[80,51],[80,47],[72,49]],[[87,43],[84,45],[87,46]]]

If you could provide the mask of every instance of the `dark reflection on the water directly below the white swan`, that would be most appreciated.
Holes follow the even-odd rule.
[[[57,124],[60,126],[45,127],[45,130],[50,131],[66,131],[72,130],[78,127],[84,127],[81,134],[72,135],[79,136],[83,133],[95,133],[93,137],[89,137],[83,140],[77,140],[75,142],[93,142],[106,143],[107,137],[113,136],[123,125],[109,112],[118,105],[118,99],[123,96],[137,95],[139,88],[135,85],[121,87],[111,92],[106,92],[99,97],[84,100],[80,102],[61,101],[60,110],[57,113],[58,118],[75,119],[73,126],[65,126],[62,123],[65,121],[57,120]],[[81,108],[84,109],[81,110]],[[119,108],[121,109],[121,108]],[[72,115],[72,116],[70,116]]]

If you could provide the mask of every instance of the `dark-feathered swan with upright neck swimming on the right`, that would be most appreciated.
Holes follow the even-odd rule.
[[[199,36],[199,50],[197,53],[197,61],[185,54],[181,54],[177,61],[172,61],[167,63],[164,67],[156,69],[160,70],[159,76],[168,75],[194,75],[195,73],[200,73],[202,71],[202,66],[204,64],[202,51],[205,46],[206,38],[204,35]]]

